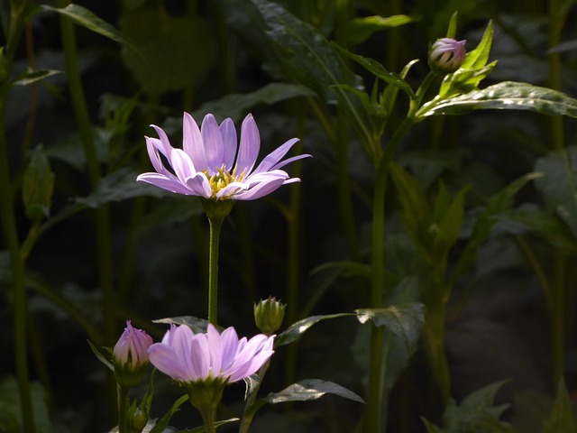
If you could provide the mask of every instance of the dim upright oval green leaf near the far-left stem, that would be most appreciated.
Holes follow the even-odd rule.
[[[22,196],[26,216],[32,220],[50,216],[50,199],[54,192],[54,173],[42,145],[36,146],[24,171]]]

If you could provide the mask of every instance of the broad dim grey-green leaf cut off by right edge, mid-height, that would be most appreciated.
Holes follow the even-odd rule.
[[[536,180],[545,207],[561,218],[577,239],[577,147],[549,152],[537,160],[536,170],[545,174]]]

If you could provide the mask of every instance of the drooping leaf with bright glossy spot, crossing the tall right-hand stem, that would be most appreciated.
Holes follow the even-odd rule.
[[[403,302],[385,309],[355,309],[361,323],[371,320],[377,327],[387,327],[403,342],[408,353],[414,351],[425,323],[424,306]]]

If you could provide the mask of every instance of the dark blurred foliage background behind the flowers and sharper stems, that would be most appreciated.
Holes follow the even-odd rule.
[[[0,3],[5,38],[0,45],[6,44],[17,4]],[[261,130],[261,153],[298,136],[298,152],[314,157],[289,167],[302,184],[235,204],[224,224],[219,320],[252,335],[257,332],[252,304],[270,295],[289,303],[285,326],[371,303],[367,269],[375,169],[326,83],[356,88],[364,83],[371,94],[374,78],[329,41],[389,71],[420,60],[407,76],[417,88],[428,72],[429,44],[445,35],[458,11],[456,38],[466,39],[468,50],[493,23],[490,61],[499,62],[481,87],[522,81],[577,94],[572,25],[577,10],[568,0],[76,4],[130,41],[118,43],[72,26],[88,136],[70,88],[68,36],[62,29],[71,22],[51,10],[26,15],[22,38],[11,47],[9,79],[28,67],[60,72],[12,86],[5,103],[12,190],[0,199],[14,204],[25,261],[28,370],[36,429],[42,432],[102,432],[114,425],[114,388],[87,339],[114,345],[130,318],[158,340],[166,327],[151,320],[206,315],[208,232],[196,198],[135,182],[138,173],[151,170],[143,139],[154,135],[149,124],[162,126],[177,146],[183,111],[197,121],[214,113],[219,121],[232,117],[237,123],[252,112]],[[282,8],[281,18],[294,21],[267,16],[275,7]],[[301,42],[314,45],[299,51]],[[311,73],[307,64],[315,62],[324,68]],[[382,145],[406,112],[399,101],[387,113]],[[466,430],[451,423],[459,418],[455,413],[462,419],[472,415],[466,401],[457,406],[444,399],[422,337],[405,349],[391,345],[385,384],[391,392],[385,415],[390,431],[561,431],[548,418],[557,385],[564,377],[570,394],[577,390],[576,126],[559,116],[488,110],[431,116],[400,143],[387,190],[382,269],[386,287],[394,290],[386,290],[383,305],[419,301],[427,311],[444,309],[428,318],[442,321],[437,325],[444,329],[449,395],[461,402],[506,381],[485,389],[482,398],[473,394],[469,402],[491,406],[494,396],[493,409],[508,406],[489,410],[487,417],[508,424]],[[41,197],[34,197],[39,190]],[[441,221],[452,235],[432,241],[427,233]],[[13,271],[5,244],[0,244],[0,430],[20,431]],[[423,336],[432,326],[427,319]],[[319,323],[298,345],[279,348],[263,391],[320,377],[364,396],[368,338],[367,327],[354,318]],[[160,414],[179,390],[157,376],[160,396],[153,411]],[[231,387],[224,418],[238,410],[242,388]],[[355,431],[363,410],[327,397],[263,411],[253,431]],[[191,412],[181,409],[173,423],[198,425]]]

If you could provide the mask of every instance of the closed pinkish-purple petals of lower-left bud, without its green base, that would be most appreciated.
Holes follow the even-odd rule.
[[[147,349],[152,343],[151,336],[142,329],[133,327],[130,320],[126,320],[126,328],[114,345],[114,364],[132,370],[148,364]]]

